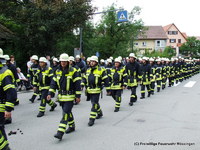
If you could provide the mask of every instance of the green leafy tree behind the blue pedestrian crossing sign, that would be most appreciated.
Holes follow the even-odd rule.
[[[100,56],[107,58],[109,56],[127,56],[130,42],[133,37],[137,37],[138,31],[143,29],[142,20],[136,20],[135,16],[140,13],[140,8],[135,7],[129,13],[129,21],[124,23],[117,22],[116,7],[114,4],[104,10],[106,13],[102,15],[102,20],[95,27],[90,25],[90,39],[87,42],[93,47],[88,47],[88,51],[95,54],[100,52]],[[86,33],[88,30],[85,30]],[[95,32],[93,32],[95,31]],[[86,50],[87,51],[87,50]]]

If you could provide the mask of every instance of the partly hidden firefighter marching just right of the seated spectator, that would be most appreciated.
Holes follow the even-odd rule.
[[[34,81],[34,76],[37,73],[37,70],[39,68],[39,64],[38,64],[38,56],[33,55],[31,57],[32,61],[33,61],[33,65],[31,66],[29,73],[28,73],[28,78],[30,78],[32,85],[36,85],[35,81]],[[34,93],[31,97],[31,99],[29,99],[29,101],[31,101],[32,103],[34,102],[35,98],[37,97],[37,95],[39,95],[39,87],[35,87],[34,88]],[[40,99],[40,98],[39,98]]]

